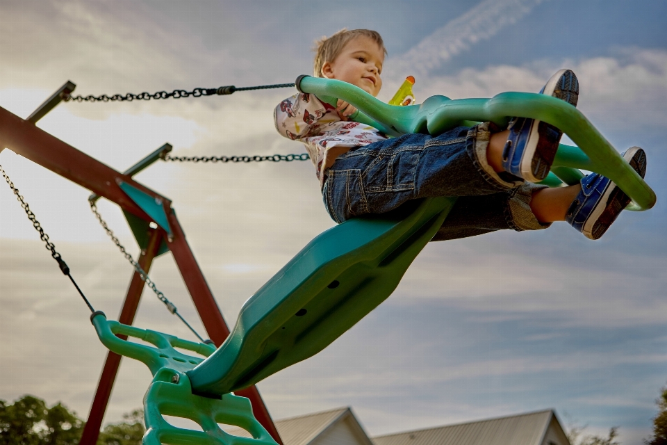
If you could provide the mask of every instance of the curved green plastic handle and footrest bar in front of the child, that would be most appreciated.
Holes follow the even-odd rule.
[[[392,106],[359,87],[335,79],[299,76],[297,89],[318,97],[340,97],[359,108],[354,120],[388,134],[437,135],[470,121],[506,125],[513,116],[548,122],[561,129],[578,147],[561,145],[555,166],[583,168],[609,177],[636,204],[636,210],[654,206],[654,191],[620,156],[581,111],[556,97],[529,92],[503,92],[491,99],[455,99],[431,96],[420,105]]]

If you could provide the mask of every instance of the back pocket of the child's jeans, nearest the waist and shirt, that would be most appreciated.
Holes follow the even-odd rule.
[[[324,204],[331,219],[343,223],[368,213],[368,201],[361,183],[361,170],[329,170],[324,184]]]

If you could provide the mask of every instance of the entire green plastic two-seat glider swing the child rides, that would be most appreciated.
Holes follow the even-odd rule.
[[[543,120],[580,147],[560,145],[546,184],[575,184],[583,176],[577,169],[582,168],[616,182],[632,198],[629,209],[650,209],[656,200],[651,188],[591,122],[554,97],[505,92],[491,99],[434,96],[420,105],[390,106],[342,81],[300,76],[296,84],[300,91],[318,97],[340,97],[361,110],[355,120],[393,135],[436,135],[479,121],[502,125],[509,116]],[[415,200],[390,213],[354,218],[320,234],[249,298],[217,350],[93,314],[104,345],[144,362],[154,375],[144,402],[143,443],[274,443],[252,416],[247,399],[230,393],[315,355],[386,300],[455,201],[456,197]],[[156,347],[130,343],[114,334],[139,337]],[[179,355],[173,346],[208,358]],[[176,428],[162,415],[186,417],[204,431]],[[231,436],[217,426],[218,421],[239,426],[253,438]]]

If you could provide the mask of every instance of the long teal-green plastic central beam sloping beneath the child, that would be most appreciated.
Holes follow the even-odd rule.
[[[308,243],[241,308],[215,353],[188,371],[198,394],[226,394],[311,357],[396,289],[455,197],[347,220]]]

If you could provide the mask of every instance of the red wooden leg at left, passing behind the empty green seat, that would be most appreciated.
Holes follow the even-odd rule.
[[[158,253],[160,248],[160,243],[163,240],[163,232],[158,229],[149,229],[151,237],[149,238],[148,245],[146,249],[141,252],[139,256],[139,266],[146,273],[151,268],[153,259]],[[130,286],[127,290],[127,296],[125,297],[125,302],[123,303],[123,308],[121,309],[120,316],[118,321],[124,325],[131,325],[134,321],[134,316],[137,313],[137,307],[139,306],[139,300],[141,298],[141,293],[144,289],[144,282],[141,279],[138,272],[134,272],[132,275],[132,280]],[[119,336],[122,339],[127,339],[126,335]],[[104,418],[104,413],[106,412],[106,407],[109,403],[109,398],[111,396],[111,390],[113,389],[113,382],[116,379],[116,373],[118,372],[118,367],[120,366],[120,359],[122,356],[117,355],[109,351],[106,355],[106,362],[104,362],[104,368],[99,377],[99,383],[97,384],[97,392],[95,393],[95,398],[92,401],[92,406],[90,407],[90,414],[88,414],[88,421],[85,423],[83,428],[83,435],[81,435],[81,445],[95,445],[97,443],[97,437],[99,436],[99,429],[102,425],[102,419]]]

